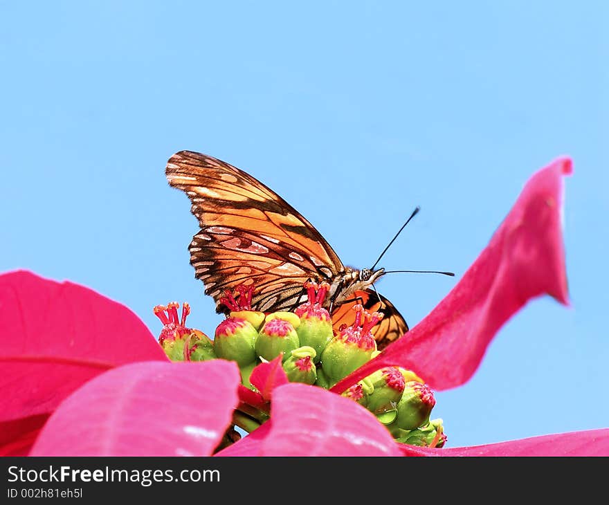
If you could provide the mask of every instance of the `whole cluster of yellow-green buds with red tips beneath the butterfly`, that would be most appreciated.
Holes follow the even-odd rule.
[[[253,369],[282,356],[290,382],[330,389],[379,354],[372,329],[381,314],[367,313],[356,304],[352,324],[334,331],[322,306],[329,285],[307,283],[305,288],[309,302],[293,312],[269,314],[251,309],[251,289],[241,288],[238,301],[227,293],[223,301],[235,310],[218,325],[213,341],[196,330],[167,338],[173,333],[164,329],[163,349],[172,360],[233,360],[241,370],[242,383],[251,389],[255,389],[249,381]],[[170,315],[170,320],[176,317]],[[343,396],[370,410],[397,441],[431,447],[442,447],[446,441],[442,419],[430,421],[433,392],[410,370],[379,369],[349,387]]]

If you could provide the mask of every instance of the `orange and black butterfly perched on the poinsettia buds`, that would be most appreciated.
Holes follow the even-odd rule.
[[[385,273],[343,265],[320,233],[289,203],[253,176],[206,154],[181,151],[165,168],[172,187],[188,195],[199,232],[190,242],[190,264],[216,302],[226,290],[253,284],[252,308],[287,311],[305,302],[307,280],[330,284],[325,306],[334,329],[354,322],[362,304],[383,318],[372,328],[379,349],[408,331],[394,305],[372,289]]]

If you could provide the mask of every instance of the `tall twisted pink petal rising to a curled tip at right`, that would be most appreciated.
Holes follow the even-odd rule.
[[[502,325],[531,298],[567,304],[561,230],[563,175],[569,158],[540,169],[525,185],[489,245],[448,295],[406,336],[332,388],[343,392],[373,371],[399,365],[433,389],[469,380]]]

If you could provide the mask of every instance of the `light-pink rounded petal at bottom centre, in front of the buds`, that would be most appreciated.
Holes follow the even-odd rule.
[[[278,387],[273,391],[271,419],[271,429],[260,445],[263,456],[400,455],[374,415],[321,387],[298,383]]]

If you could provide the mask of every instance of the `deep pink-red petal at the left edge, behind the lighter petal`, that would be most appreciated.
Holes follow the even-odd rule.
[[[0,422],[48,414],[96,375],[167,361],[145,324],[117,302],[33,273],[0,275]]]

